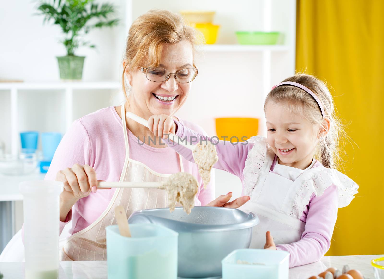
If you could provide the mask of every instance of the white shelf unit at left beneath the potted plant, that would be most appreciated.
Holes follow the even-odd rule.
[[[64,134],[75,119],[111,105],[120,88],[117,81],[0,83],[0,104],[7,110],[4,114],[10,115],[9,121],[1,124],[4,133],[0,141],[10,146],[8,152],[17,154],[21,131]],[[84,97],[86,100],[76,110],[77,99]]]

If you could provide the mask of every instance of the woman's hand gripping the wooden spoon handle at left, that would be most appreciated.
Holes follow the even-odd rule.
[[[96,172],[88,165],[74,164],[72,168],[58,171],[56,181],[64,183],[60,194],[60,220],[63,222],[76,201],[97,190]]]

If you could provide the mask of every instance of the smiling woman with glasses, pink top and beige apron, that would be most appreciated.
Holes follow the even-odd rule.
[[[98,180],[162,181],[172,173],[185,171],[200,184],[195,206],[237,208],[248,201],[245,196],[228,203],[232,193],[212,201],[213,177],[204,189],[195,164],[125,116],[131,111],[145,119],[160,114],[178,119],[174,115],[187,100],[198,74],[194,65],[195,44],[195,30],[186,26],[179,15],[162,10],[141,15],[129,30],[123,60],[126,102],[74,121],[63,137],[45,178],[64,183],[60,195],[60,232],[72,220],[72,235],[61,251],[63,261],[106,259],[105,227],[115,224],[116,206],[124,206],[127,217],[139,209],[168,206],[164,190],[97,190]],[[178,120],[205,134],[199,126]],[[148,141],[150,137],[152,140]]]

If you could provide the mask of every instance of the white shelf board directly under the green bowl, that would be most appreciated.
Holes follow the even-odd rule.
[[[206,52],[250,52],[250,51],[288,51],[286,45],[204,45]]]

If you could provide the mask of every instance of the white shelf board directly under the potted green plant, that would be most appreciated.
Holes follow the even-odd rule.
[[[118,81],[57,81],[57,82],[18,82],[0,83],[0,90],[57,90],[57,89],[120,89],[121,83]]]

